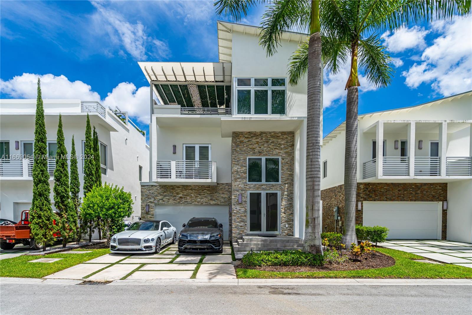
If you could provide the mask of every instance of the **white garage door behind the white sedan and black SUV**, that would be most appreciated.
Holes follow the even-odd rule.
[[[229,206],[220,205],[178,205],[157,204],[154,206],[154,219],[169,221],[177,229],[177,234],[182,229],[182,224],[187,223],[193,217],[215,218],[223,224],[223,238],[229,238]]]

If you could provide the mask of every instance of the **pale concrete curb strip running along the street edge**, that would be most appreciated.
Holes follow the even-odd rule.
[[[83,280],[43,278],[0,278],[3,284],[75,285]],[[108,286],[120,285],[448,285],[472,286],[472,279],[150,279],[115,280]]]

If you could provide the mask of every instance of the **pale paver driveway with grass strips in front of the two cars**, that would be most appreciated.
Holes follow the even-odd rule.
[[[472,262],[472,261],[471,261]],[[160,254],[106,254],[58,271],[48,279],[236,279],[231,247],[223,254],[179,254],[177,245]]]

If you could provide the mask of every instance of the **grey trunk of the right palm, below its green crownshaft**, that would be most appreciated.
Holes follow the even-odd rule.
[[[357,73],[356,73],[357,74]],[[356,75],[357,77],[357,75]],[[346,100],[346,152],[344,157],[344,233],[341,243],[346,248],[357,244],[355,235],[355,201],[357,194],[357,86],[347,88]]]

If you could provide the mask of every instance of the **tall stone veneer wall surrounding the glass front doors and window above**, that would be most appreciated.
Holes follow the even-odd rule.
[[[294,142],[294,132],[233,132],[231,141],[233,240],[247,232],[249,190],[280,191],[280,234],[293,236]],[[281,183],[248,184],[247,157],[280,157]],[[238,202],[239,193],[243,196],[242,203]]]

